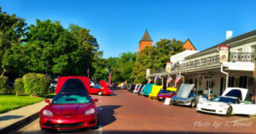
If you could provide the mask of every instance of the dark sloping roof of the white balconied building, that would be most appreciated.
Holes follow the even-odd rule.
[[[207,48],[207,49],[205,49],[205,50],[203,50],[203,51],[201,51],[201,52],[199,52],[199,53],[192,54],[192,55],[188,56],[187,58],[189,58],[189,57],[194,57],[194,56],[197,55],[197,54],[207,52],[208,50],[211,50],[211,49],[213,49],[213,48],[218,48],[219,45],[230,44],[230,43],[232,43],[232,42],[241,41],[241,40],[246,39],[247,37],[250,37],[250,36],[256,36],[256,30],[247,32],[247,33],[242,34],[242,35],[240,35],[240,36],[236,36],[236,37],[230,38],[230,40],[226,40],[226,41],[224,41],[224,42],[218,43],[217,45],[212,46],[212,47],[209,47],[209,48]]]

